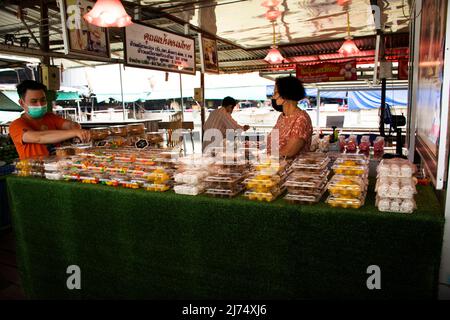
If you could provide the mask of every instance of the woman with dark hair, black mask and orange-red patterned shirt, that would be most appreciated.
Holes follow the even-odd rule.
[[[278,130],[278,152],[280,157],[294,158],[311,145],[313,127],[311,118],[297,105],[306,96],[301,81],[295,77],[281,77],[275,81],[272,107],[281,112],[275,127],[268,136],[267,151],[272,153],[272,135]]]

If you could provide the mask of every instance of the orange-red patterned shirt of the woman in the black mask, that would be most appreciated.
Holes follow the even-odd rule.
[[[283,113],[278,117],[275,127],[269,134],[267,139],[267,151],[271,152],[272,133],[274,129],[278,129],[279,150],[283,149],[292,138],[300,138],[305,140],[305,145],[299,151],[308,151],[311,146],[311,137],[313,127],[311,118],[304,110],[297,109],[293,114],[285,116]]]

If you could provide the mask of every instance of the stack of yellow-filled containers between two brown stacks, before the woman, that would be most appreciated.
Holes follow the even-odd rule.
[[[254,166],[254,171],[244,184],[245,197],[250,200],[271,202],[284,190],[284,182],[289,174],[286,161],[268,159]]]

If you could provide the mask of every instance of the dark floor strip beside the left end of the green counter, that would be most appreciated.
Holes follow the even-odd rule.
[[[0,231],[0,300],[26,299],[20,286],[16,246],[11,229]]]

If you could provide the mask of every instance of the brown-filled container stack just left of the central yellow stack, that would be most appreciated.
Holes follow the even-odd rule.
[[[214,174],[205,179],[205,193],[213,197],[232,198],[243,190],[249,164],[238,154],[216,154]]]

